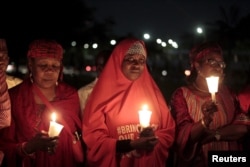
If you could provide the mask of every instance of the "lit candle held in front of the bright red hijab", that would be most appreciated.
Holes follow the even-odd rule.
[[[147,105],[142,106],[142,110],[139,111],[139,121],[142,128],[146,128],[150,125],[152,111],[148,110]]]

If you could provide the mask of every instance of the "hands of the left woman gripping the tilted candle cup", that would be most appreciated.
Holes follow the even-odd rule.
[[[41,131],[38,132],[30,141],[28,141],[23,149],[28,154],[34,153],[36,151],[46,151],[52,154],[55,152],[55,148],[58,143],[57,139],[58,136],[49,137],[47,132]]]

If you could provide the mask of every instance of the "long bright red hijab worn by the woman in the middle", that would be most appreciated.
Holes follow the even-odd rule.
[[[146,53],[143,41],[121,41],[114,48],[86,104],[83,139],[88,147],[87,161],[93,166],[115,167],[119,163],[118,166],[165,166],[169,147],[173,143],[174,121],[146,64],[141,76],[135,81],[127,79],[122,72],[124,56],[136,42],[141,43]],[[152,111],[150,123],[157,125],[155,135],[159,138],[159,144],[146,157],[118,160],[116,141],[121,138],[118,137],[117,129],[139,124],[138,110],[145,103]]]

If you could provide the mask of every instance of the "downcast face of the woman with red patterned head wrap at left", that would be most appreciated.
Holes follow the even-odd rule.
[[[55,58],[29,59],[29,67],[33,81],[42,88],[50,88],[56,85],[61,62]]]

